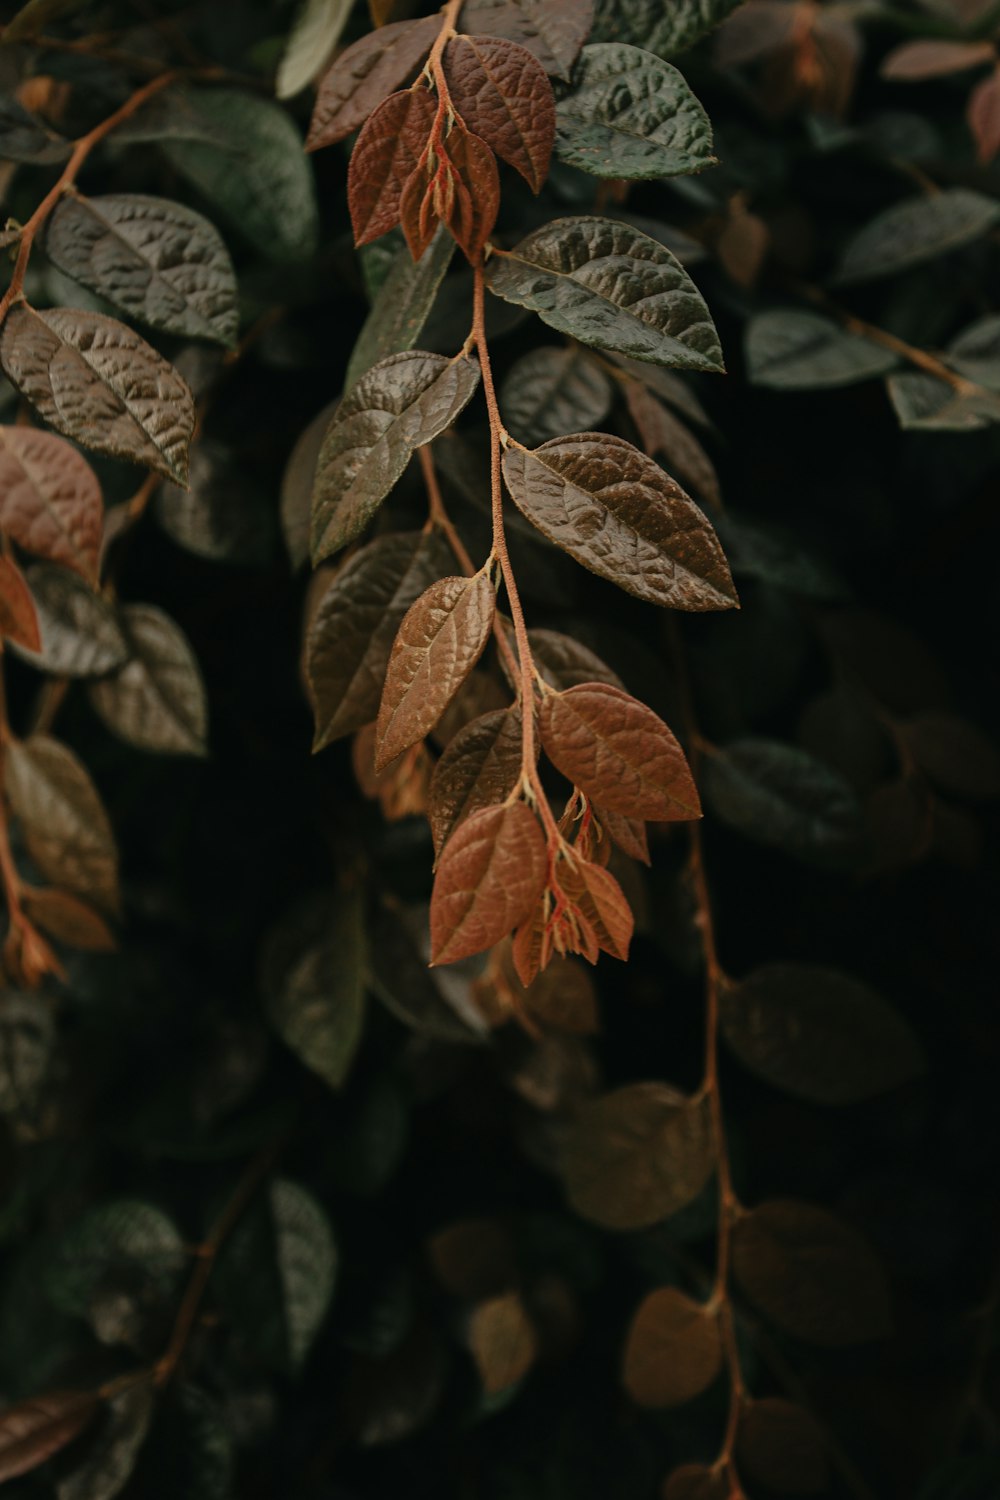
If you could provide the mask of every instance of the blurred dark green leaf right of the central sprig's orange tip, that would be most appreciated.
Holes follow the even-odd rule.
[[[748,838],[813,864],[843,866],[856,852],[858,802],[837,771],[775,740],[738,740],[705,766],[717,818]]]

